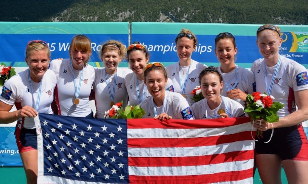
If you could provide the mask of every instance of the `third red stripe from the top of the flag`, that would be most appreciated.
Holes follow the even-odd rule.
[[[129,157],[128,165],[137,167],[176,167],[217,164],[253,159],[254,150],[188,157]]]

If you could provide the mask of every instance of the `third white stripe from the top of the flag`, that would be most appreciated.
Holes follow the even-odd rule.
[[[240,168],[240,170],[239,170]],[[225,162],[200,166],[177,166],[177,167],[136,167],[128,166],[130,175],[136,176],[186,176],[213,174],[230,171],[243,171],[253,168],[253,159]]]

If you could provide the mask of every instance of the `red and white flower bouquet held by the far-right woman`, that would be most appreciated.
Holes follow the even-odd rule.
[[[275,98],[272,95],[268,95],[266,93],[261,94],[260,92],[254,92],[252,94],[248,94],[244,112],[249,115],[252,121],[260,121],[260,125],[262,119],[269,123],[277,122],[279,121],[277,112],[284,105],[280,102],[273,102],[274,99]],[[272,129],[272,135],[273,131],[274,129]],[[262,137],[262,131],[257,130],[257,137],[259,136]]]

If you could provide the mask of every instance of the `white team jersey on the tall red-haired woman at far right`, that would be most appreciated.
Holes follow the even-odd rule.
[[[275,66],[266,68],[266,77],[264,72],[264,59],[257,59],[253,62],[251,71],[256,79],[256,89],[263,94],[270,88],[271,80],[274,74]],[[265,82],[266,78],[266,82]],[[267,86],[267,89],[266,87]],[[308,89],[307,70],[301,64],[292,59],[281,56],[281,63],[278,67],[277,75],[273,82],[270,95],[274,96],[275,102],[284,104],[282,109],[278,110],[279,117],[285,117],[296,110],[294,91]]]

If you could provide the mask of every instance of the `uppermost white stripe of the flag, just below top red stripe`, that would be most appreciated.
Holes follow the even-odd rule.
[[[251,123],[244,123],[224,128],[197,128],[197,129],[172,129],[172,128],[129,128],[129,138],[188,138],[230,135],[243,131],[251,131]]]

